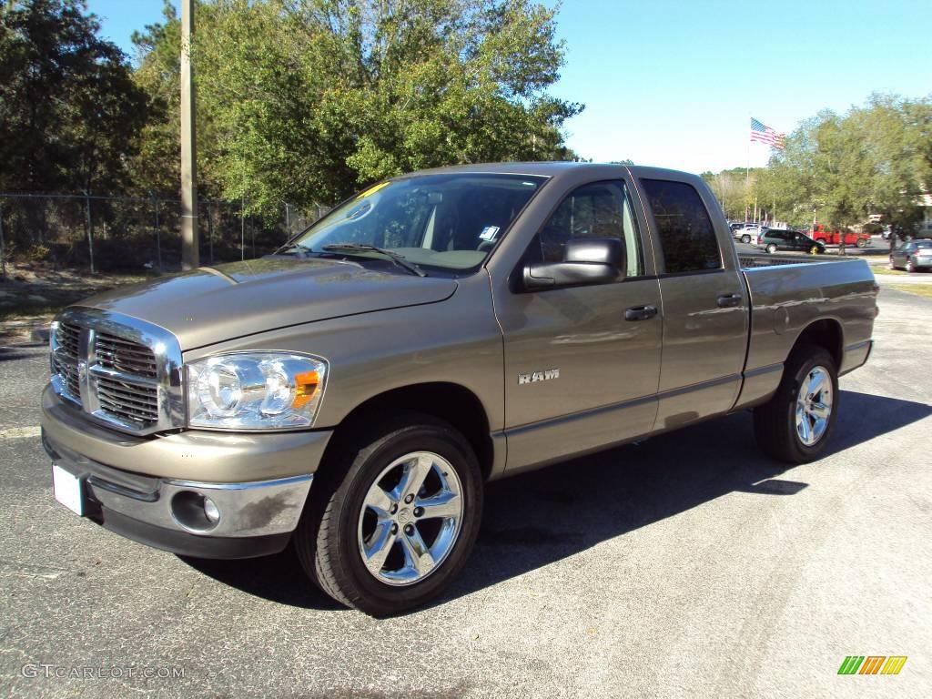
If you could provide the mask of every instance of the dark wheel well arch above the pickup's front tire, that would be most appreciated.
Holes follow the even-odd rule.
[[[492,469],[493,447],[486,409],[473,391],[455,383],[421,383],[379,393],[357,405],[343,418],[330,440],[330,445],[337,445],[345,440],[360,422],[371,423],[378,415],[399,410],[424,413],[449,422],[473,446],[476,459],[479,459],[482,468],[483,480],[487,479]],[[327,452],[330,451],[330,445]],[[325,453],[323,460],[326,459]]]

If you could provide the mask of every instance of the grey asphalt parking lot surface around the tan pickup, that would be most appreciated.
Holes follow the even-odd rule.
[[[762,458],[744,413],[492,484],[459,582],[387,620],[288,555],[183,560],[65,510],[45,348],[0,349],[0,694],[928,696],[930,320],[882,291],[825,459]]]

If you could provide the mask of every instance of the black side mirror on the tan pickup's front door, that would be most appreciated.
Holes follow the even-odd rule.
[[[569,240],[563,257],[563,262],[525,265],[525,288],[548,289],[624,279],[624,244],[616,238]]]

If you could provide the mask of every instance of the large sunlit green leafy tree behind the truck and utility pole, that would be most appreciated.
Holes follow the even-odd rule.
[[[555,9],[532,0],[213,0],[196,14],[201,182],[267,218],[404,171],[573,157],[562,127],[583,107],[545,91],[563,46]],[[179,32],[167,6],[134,38],[152,189],[177,161]]]

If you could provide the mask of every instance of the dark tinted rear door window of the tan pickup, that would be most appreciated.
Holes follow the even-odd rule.
[[[681,182],[641,180],[651,201],[668,274],[720,269],[715,227],[699,193]]]

